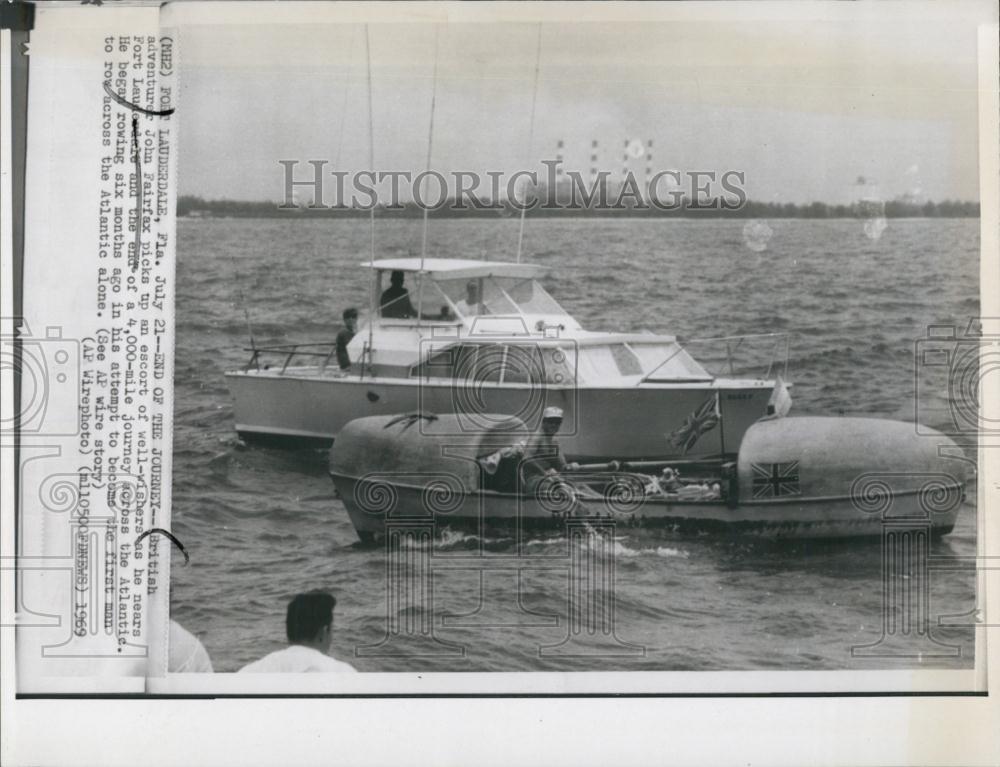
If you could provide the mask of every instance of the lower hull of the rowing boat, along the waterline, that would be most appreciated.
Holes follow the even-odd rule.
[[[730,506],[719,501],[670,502],[648,498],[630,506],[603,499],[578,499],[571,511],[535,498],[475,492],[435,501],[426,489],[357,480],[331,473],[358,536],[383,537],[393,523],[425,522],[438,530],[468,529],[479,533],[559,529],[571,519],[613,520],[622,528],[661,528],[679,534],[723,534],[771,539],[856,538],[879,536],[887,525],[905,522],[931,535],[946,535],[963,504],[928,513],[919,492],[895,495],[891,517],[865,511],[851,498],[799,498],[794,501],[746,501]],[[360,485],[359,485],[360,482]],[[948,492],[964,492],[955,484]],[[438,507],[435,511],[435,503]]]

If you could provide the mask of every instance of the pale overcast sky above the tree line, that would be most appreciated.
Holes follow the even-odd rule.
[[[560,139],[567,168],[586,172],[596,140],[616,171],[641,139],[656,169],[744,171],[758,200],[846,202],[859,176],[887,198],[978,199],[976,23],[992,3],[742,5],[543,23],[530,150],[537,24],[373,23],[375,166],[425,166],[437,30],[442,172],[538,167]],[[182,194],[281,199],[281,159],[368,167],[365,27],[325,16],[178,14]]]

